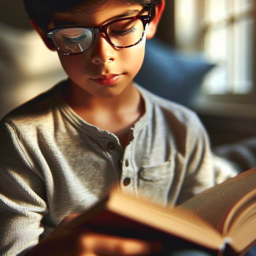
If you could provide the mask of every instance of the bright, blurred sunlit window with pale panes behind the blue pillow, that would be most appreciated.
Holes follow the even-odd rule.
[[[208,102],[256,103],[255,7],[255,0],[175,0],[176,46],[217,64],[202,85]]]

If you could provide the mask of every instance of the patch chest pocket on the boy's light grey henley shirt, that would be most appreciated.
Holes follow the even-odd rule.
[[[142,166],[139,170],[139,194],[153,202],[167,205],[168,193],[173,181],[171,161],[157,166]]]

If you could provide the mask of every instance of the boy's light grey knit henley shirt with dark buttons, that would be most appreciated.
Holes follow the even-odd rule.
[[[113,185],[166,207],[214,185],[208,137],[193,112],[138,86],[146,112],[123,150],[67,105],[65,83],[1,121],[0,255],[22,255]]]

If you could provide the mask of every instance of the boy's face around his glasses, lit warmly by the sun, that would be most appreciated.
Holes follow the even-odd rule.
[[[90,11],[85,8],[79,12],[56,13],[47,29],[70,24],[102,26],[116,19],[147,14],[148,11],[143,10],[139,4],[110,0]],[[150,31],[153,36],[152,28]],[[58,54],[73,85],[79,86],[93,97],[115,97],[132,85],[132,80],[143,62],[145,39],[129,48],[116,48],[108,42],[105,34],[97,33],[93,45],[87,52],[65,55],[58,51]]]

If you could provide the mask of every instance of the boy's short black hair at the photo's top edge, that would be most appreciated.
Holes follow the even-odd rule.
[[[23,0],[29,18],[39,27],[48,26],[55,12],[92,8],[105,3],[107,0]],[[120,0],[130,4],[140,4],[143,7],[155,7],[162,0]]]

